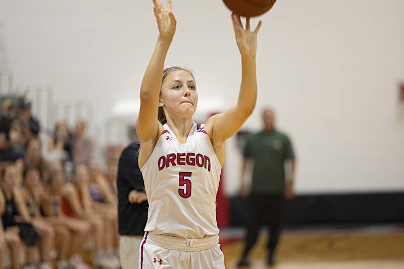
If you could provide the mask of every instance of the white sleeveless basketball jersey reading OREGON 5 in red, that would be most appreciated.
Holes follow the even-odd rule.
[[[198,239],[217,235],[221,165],[204,125],[180,144],[167,124],[141,169],[149,204],[146,232]]]

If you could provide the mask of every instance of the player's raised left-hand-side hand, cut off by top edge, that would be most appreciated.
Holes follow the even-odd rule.
[[[165,9],[160,0],[153,0],[154,13],[157,26],[159,27],[160,37],[172,40],[174,37],[177,21],[175,20],[171,0],[167,0]]]

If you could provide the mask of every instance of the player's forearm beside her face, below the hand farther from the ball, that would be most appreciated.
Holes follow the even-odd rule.
[[[146,72],[144,73],[140,87],[140,98],[142,100],[150,100],[151,98],[154,98],[156,102],[158,101],[164,63],[170,44],[170,39],[164,39],[160,36],[157,39],[155,50],[151,56]]]

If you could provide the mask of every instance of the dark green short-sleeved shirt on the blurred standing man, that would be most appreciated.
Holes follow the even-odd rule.
[[[254,160],[252,193],[283,193],[285,160],[294,159],[289,138],[277,130],[251,135],[244,148],[244,157]]]

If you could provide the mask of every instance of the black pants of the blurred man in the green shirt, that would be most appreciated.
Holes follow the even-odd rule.
[[[257,241],[258,234],[263,225],[268,226],[268,248],[272,255],[278,244],[283,217],[283,194],[251,194],[249,197],[250,217],[247,223],[247,234],[243,259],[245,259]]]

